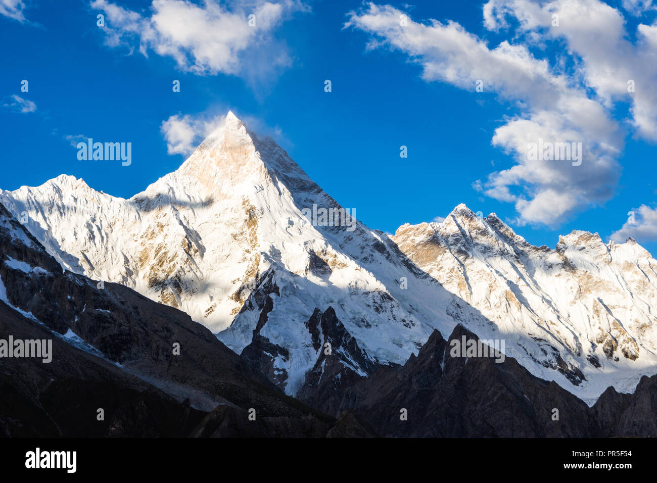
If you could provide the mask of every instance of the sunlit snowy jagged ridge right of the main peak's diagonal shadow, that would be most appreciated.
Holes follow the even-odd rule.
[[[463,204],[442,223],[406,224],[392,239],[507,334],[526,367],[529,358],[579,369],[566,371],[579,388],[562,385],[587,402],[610,384],[629,392],[637,372],[657,369],[657,261],[633,239],[604,244],[573,231],[555,250],[536,247]]]

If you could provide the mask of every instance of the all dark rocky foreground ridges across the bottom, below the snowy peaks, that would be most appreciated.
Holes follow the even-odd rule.
[[[307,329],[332,354],[291,398],[258,350],[237,355],[179,310],[62,271],[1,204],[0,277],[0,339],[52,340],[53,356],[0,357],[1,436],[657,436],[657,376],[589,408],[510,357],[451,357],[451,340],[476,339],[458,325],[362,377],[350,367],[361,349],[331,308]]]

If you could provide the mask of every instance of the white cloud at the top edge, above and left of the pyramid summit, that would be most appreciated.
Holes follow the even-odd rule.
[[[183,72],[197,75],[233,74],[259,78],[288,66],[286,47],[273,37],[293,12],[307,11],[300,0],[239,3],[232,11],[216,0],[202,6],[183,0],[153,0],[150,16],[93,0],[91,7],[106,16],[106,44],[136,46],[175,60]],[[253,25],[249,24],[250,15]]]

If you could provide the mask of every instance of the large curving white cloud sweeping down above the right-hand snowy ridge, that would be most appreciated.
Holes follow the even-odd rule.
[[[521,24],[551,22],[551,9],[524,0],[510,3],[489,2],[484,7],[487,28],[507,27],[506,16],[516,5],[524,8],[524,16],[518,13]],[[484,92],[495,93],[520,111],[495,130],[492,140],[514,156],[516,165],[477,180],[474,187],[514,203],[518,223],[547,225],[556,225],[612,195],[620,175],[616,158],[623,149],[623,137],[610,119],[608,106],[589,97],[578,78],[555,72],[548,60],[534,57],[528,45],[502,41],[491,48],[457,22],[409,19],[404,26],[401,14],[405,12],[389,5],[369,3],[361,11],[350,12],[345,26],[371,34],[369,49],[390,47],[407,54],[422,66],[425,81],[450,83],[478,95],[475,86],[481,80]],[[585,16],[582,22],[594,20]],[[528,144],[539,139],[581,143],[583,162],[572,166],[567,161],[528,160]]]

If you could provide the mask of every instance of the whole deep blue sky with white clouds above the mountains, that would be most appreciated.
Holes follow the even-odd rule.
[[[650,1],[65,4],[0,0],[0,189],[66,173],[127,198],[200,140],[173,143],[164,122],[202,137],[231,109],[370,227],[464,202],[533,244],[583,229],[657,252]],[[131,166],[79,161],[89,137],[131,142]],[[581,166],[528,162],[539,137],[581,142]]]

